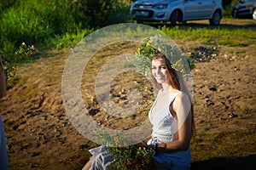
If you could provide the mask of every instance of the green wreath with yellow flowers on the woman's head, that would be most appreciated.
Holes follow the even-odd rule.
[[[195,67],[193,59],[183,56],[177,46],[163,43],[161,35],[144,38],[141,46],[138,47],[137,52],[135,52],[135,57],[127,58],[127,60],[135,65],[137,69],[149,79],[150,63],[157,53],[165,55],[172,63],[172,68],[183,74],[189,74]]]

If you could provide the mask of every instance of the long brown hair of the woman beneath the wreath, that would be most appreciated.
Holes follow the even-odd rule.
[[[184,92],[185,94],[187,94],[189,96],[189,99],[190,99],[190,102],[191,102],[190,113],[191,113],[191,117],[192,117],[192,120],[191,120],[191,134],[192,134],[192,136],[194,136],[195,135],[194,107],[193,107],[193,104],[192,104],[192,101],[191,101],[191,97],[189,95],[188,88],[186,87],[186,85],[183,82],[182,73],[179,73],[179,72],[175,71],[172,68],[172,64],[171,64],[170,60],[167,59],[166,56],[161,54],[161,53],[156,54],[153,59],[163,59],[164,60],[167,71],[169,73],[168,74],[169,84],[172,86],[172,88],[175,88],[179,91],[182,91],[182,92]],[[158,90],[160,90],[162,88],[162,86],[161,86],[160,83],[156,82],[156,80],[155,80],[155,78],[152,74],[151,67],[150,67],[150,74],[151,74],[152,82],[154,84],[154,88],[157,88]]]

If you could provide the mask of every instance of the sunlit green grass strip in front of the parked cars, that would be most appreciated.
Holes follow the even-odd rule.
[[[253,26],[188,24],[175,27],[164,25],[159,26],[159,29],[173,39],[181,39],[183,41],[202,40],[206,44],[229,47],[246,47],[249,44],[253,44],[256,38]]]

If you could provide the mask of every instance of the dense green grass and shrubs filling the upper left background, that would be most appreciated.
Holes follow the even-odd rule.
[[[2,0],[0,54],[12,59],[22,42],[70,46],[70,41],[95,27],[126,22],[129,7],[125,0]]]

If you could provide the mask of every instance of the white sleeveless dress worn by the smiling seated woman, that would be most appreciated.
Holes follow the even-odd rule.
[[[178,92],[174,94],[172,98],[167,102],[163,108],[159,111],[153,113],[152,110],[156,104],[160,94],[154,101],[149,113],[148,118],[152,123],[152,139],[148,141],[148,144],[161,144],[170,141],[175,141],[178,139],[177,135],[177,120],[172,116],[169,105],[172,104],[177,95],[183,92]],[[172,153],[159,153],[154,156],[154,161],[156,167],[159,170],[185,170],[190,167],[190,148],[188,150],[176,151]]]

